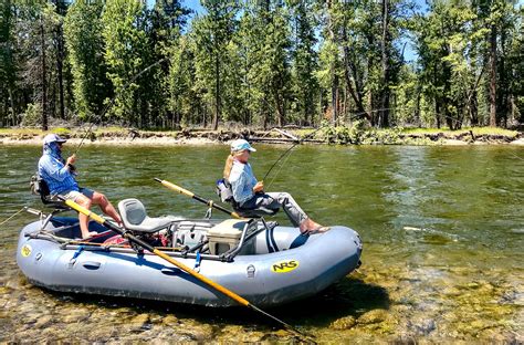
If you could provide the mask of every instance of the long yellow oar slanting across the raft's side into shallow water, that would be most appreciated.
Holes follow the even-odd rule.
[[[126,230],[123,230],[120,229],[119,227],[108,222],[107,220],[105,220],[104,218],[102,218],[101,216],[96,215],[96,213],[93,213],[92,211],[90,211],[88,209],[80,206],[78,203],[74,202],[73,200],[66,200],[64,198],[61,198],[59,197],[60,199],[62,199],[65,205],[67,205],[69,207],[71,207],[72,209],[76,210],[77,212],[82,213],[82,215],[85,215],[87,217],[90,217],[91,219],[93,219],[94,221],[96,221],[97,223],[99,224],[103,224],[104,227],[106,227],[107,229],[111,229],[113,231],[115,231],[116,233],[120,234],[122,237],[126,238],[127,240],[129,240],[129,242],[133,242],[142,248],[144,248],[145,250],[154,253],[155,255],[157,257],[160,257],[161,259],[166,260],[167,262],[176,265],[177,268],[179,268],[180,270],[185,271],[186,273],[195,276],[196,279],[198,279],[199,281],[201,281],[202,283],[213,288],[214,290],[217,291],[220,291],[221,293],[223,293],[224,295],[227,295],[228,297],[230,297],[231,300],[234,300],[235,302],[238,302],[239,304],[241,305],[244,305],[244,306],[248,306],[250,309],[252,309],[253,311],[255,312],[259,312],[270,318],[272,318],[273,321],[276,321],[277,323],[280,323],[281,325],[283,325],[285,328],[287,328],[289,331],[291,331],[292,333],[296,334],[296,335],[300,335],[302,337],[306,337],[305,334],[303,334],[302,332],[300,332],[298,330],[294,328],[292,325],[283,322],[282,320],[280,318],[276,318],[275,316],[264,312],[263,310],[259,309],[258,306],[251,304],[248,300],[243,299],[242,296],[235,294],[234,292],[232,292],[231,290],[213,282],[212,280],[206,278],[205,275],[191,270],[189,266],[185,265],[184,263],[181,262],[178,262],[177,260],[172,259],[171,257],[169,257],[168,254],[166,254],[165,252],[156,249],[155,247],[150,245],[149,243],[146,243],[144,242],[143,240],[140,239],[137,239],[136,237],[134,237],[132,233],[129,233],[128,231]],[[311,341],[311,339],[308,339]]]

